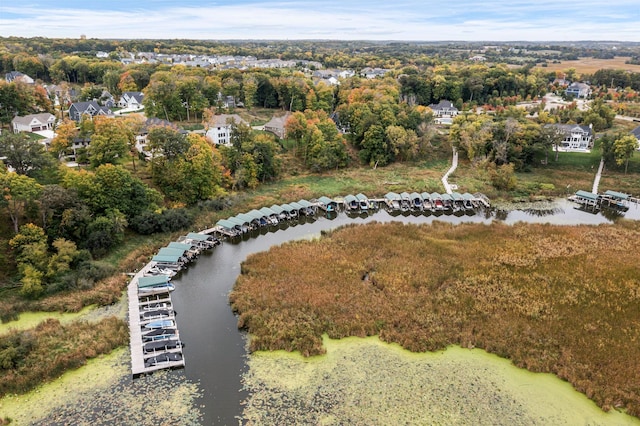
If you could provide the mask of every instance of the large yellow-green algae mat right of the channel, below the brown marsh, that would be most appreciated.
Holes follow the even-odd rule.
[[[479,349],[416,354],[377,337],[324,338],[326,355],[249,358],[243,418],[279,424],[640,425],[554,375]]]

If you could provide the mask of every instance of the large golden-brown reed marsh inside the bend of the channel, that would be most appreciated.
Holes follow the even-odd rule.
[[[249,257],[230,297],[252,351],[478,347],[638,417],[639,260],[637,223],[372,223]]]

